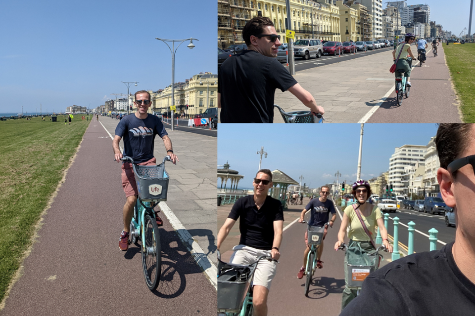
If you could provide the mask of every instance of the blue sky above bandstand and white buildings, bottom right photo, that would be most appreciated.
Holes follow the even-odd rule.
[[[354,182],[358,165],[361,124],[220,124],[218,165],[226,161],[244,178],[239,187],[252,188],[264,146],[267,158],[261,168],[279,169],[317,188],[342,179]],[[396,147],[427,145],[437,132],[436,124],[365,124],[362,178],[370,179],[387,171]],[[221,182],[218,183],[221,186]]]

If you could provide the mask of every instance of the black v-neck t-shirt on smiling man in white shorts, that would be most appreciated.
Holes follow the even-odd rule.
[[[254,196],[239,198],[234,203],[228,218],[238,218],[241,238],[239,244],[262,250],[271,250],[274,242],[274,222],[284,220],[284,210],[280,200],[266,197],[258,210]]]

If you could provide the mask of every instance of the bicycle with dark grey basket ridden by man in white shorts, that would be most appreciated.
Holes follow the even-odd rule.
[[[257,264],[272,259],[262,255],[250,265],[238,265],[221,261],[218,250],[218,316],[253,316],[252,279]]]

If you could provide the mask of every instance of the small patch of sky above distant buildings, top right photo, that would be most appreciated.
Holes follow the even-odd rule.
[[[452,34],[459,36],[460,32],[467,28],[469,32],[470,18],[470,0],[431,0],[417,1],[407,0],[407,5],[427,4],[430,6],[430,21],[441,24],[443,30],[451,31]],[[383,3],[383,7],[386,7]],[[475,11],[475,8],[474,8]],[[474,12],[475,13],[475,12]],[[472,34],[475,33],[475,14],[472,14]]]

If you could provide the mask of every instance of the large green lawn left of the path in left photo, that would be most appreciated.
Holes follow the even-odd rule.
[[[91,121],[0,121],[0,302]]]

